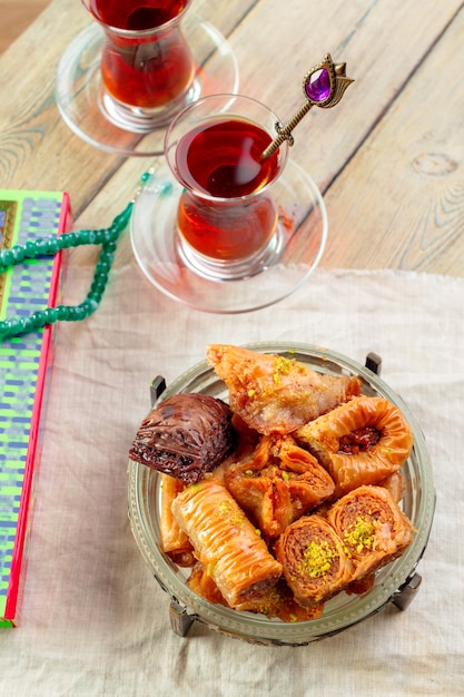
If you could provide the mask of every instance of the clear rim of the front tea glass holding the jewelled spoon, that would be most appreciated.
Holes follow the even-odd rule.
[[[272,187],[273,184],[275,184],[275,181],[277,181],[277,179],[279,179],[283,176],[283,174],[285,171],[285,167],[286,167],[287,161],[288,161],[288,153],[289,153],[289,143],[288,143],[288,140],[284,140],[284,143],[280,144],[280,146],[278,148],[278,149],[284,148],[284,150],[282,153],[283,163],[282,163],[282,166],[279,167],[278,173],[273,177],[273,179],[270,179],[270,181],[267,181],[260,188],[256,189],[255,192],[250,192],[249,194],[244,194],[243,196],[213,196],[211,194],[208,194],[207,192],[203,192],[203,190],[199,190],[199,189],[190,186],[187,181],[185,181],[182,179],[182,177],[178,176],[178,169],[175,166],[175,161],[176,160],[172,157],[171,151],[172,153],[176,151],[177,144],[178,144],[180,138],[177,140],[177,144],[171,145],[169,147],[169,138],[170,138],[170,136],[172,134],[172,130],[178,125],[178,121],[188,111],[192,111],[194,109],[198,109],[199,107],[201,107],[203,104],[205,104],[207,101],[213,101],[214,99],[228,99],[228,100],[240,99],[240,100],[249,101],[250,104],[257,105],[258,107],[265,109],[268,112],[268,116],[274,118],[275,124],[280,122],[278,116],[273,111],[273,109],[270,109],[268,106],[266,106],[259,99],[255,99],[254,97],[248,97],[247,95],[233,94],[233,92],[218,92],[216,95],[207,95],[206,97],[201,97],[200,99],[197,99],[197,100],[188,104],[186,107],[184,107],[184,109],[181,109],[178,114],[176,114],[176,116],[174,117],[174,119],[169,124],[169,126],[168,126],[168,128],[166,130],[166,135],[165,135],[165,147],[164,147],[165,159],[166,159],[166,161],[168,164],[168,167],[169,167],[170,171],[172,173],[172,176],[175,177],[176,181],[178,181],[178,184],[180,186],[182,186],[190,194],[192,194],[194,196],[196,196],[198,198],[201,198],[201,199],[204,199],[206,202],[210,202],[211,204],[215,204],[215,205],[220,205],[220,204],[225,204],[226,205],[226,204],[234,204],[234,203],[237,204],[239,202],[246,203],[248,200],[251,202],[257,196],[260,196],[261,194],[267,192],[267,189],[269,187]],[[216,117],[219,117],[219,116],[220,116],[220,111],[218,111],[215,115],[206,116],[203,120],[213,122],[216,119]],[[253,121],[251,119],[247,119],[246,116],[241,116],[239,114],[237,114],[235,116],[238,116],[238,117],[243,118],[245,121],[248,120],[248,122],[250,122],[250,124],[256,124],[256,121]],[[198,122],[200,124],[201,120],[199,120]],[[256,125],[259,126],[260,128],[265,128],[267,130],[267,128],[264,127],[261,124],[256,124]],[[188,131],[186,130],[185,132],[188,132]],[[269,132],[269,136],[273,137],[273,134]]]

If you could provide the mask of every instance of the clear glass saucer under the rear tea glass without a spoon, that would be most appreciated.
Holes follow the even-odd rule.
[[[186,102],[217,92],[238,90],[238,65],[223,35],[198,14],[186,16],[182,33],[197,66]],[[166,127],[144,134],[119,127],[102,87],[100,57],[105,41],[93,22],[66,49],[58,66],[56,100],[69,128],[101,150],[124,156],[157,156],[164,151]]]

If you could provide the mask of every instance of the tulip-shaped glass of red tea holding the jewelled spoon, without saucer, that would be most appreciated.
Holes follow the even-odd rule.
[[[241,278],[263,268],[279,225],[273,184],[288,144],[266,159],[277,117],[248,97],[214,95],[184,109],[169,126],[165,155],[184,187],[177,232],[186,262],[206,276]]]

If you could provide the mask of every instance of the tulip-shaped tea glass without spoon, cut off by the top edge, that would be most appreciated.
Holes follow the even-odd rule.
[[[165,126],[191,99],[195,61],[180,22],[190,0],[82,0],[105,33],[102,99],[113,124]]]

